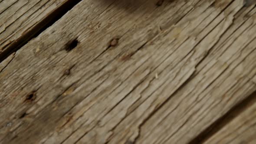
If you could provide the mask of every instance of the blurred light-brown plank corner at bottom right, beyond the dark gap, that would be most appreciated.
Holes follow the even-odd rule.
[[[256,93],[253,95],[256,98]],[[204,144],[255,144],[256,143],[256,103],[249,102],[240,115],[226,124]]]

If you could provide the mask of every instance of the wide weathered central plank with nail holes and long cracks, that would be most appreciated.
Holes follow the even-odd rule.
[[[83,0],[1,63],[0,143],[189,143],[256,91],[255,12]]]

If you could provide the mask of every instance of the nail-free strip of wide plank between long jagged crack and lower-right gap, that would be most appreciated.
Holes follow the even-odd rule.
[[[141,126],[138,143],[187,143],[255,91],[254,13],[244,10],[235,16],[233,24],[197,66],[197,75]]]

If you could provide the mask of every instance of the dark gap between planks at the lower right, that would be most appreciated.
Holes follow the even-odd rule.
[[[256,91],[250,94],[246,99],[240,101],[237,105],[226,112],[225,115],[217,119],[208,128],[202,131],[197,137],[195,137],[188,144],[203,144],[210,137],[220,131],[226,124],[230,123],[234,118],[239,116],[243,111],[249,108],[256,102]]]

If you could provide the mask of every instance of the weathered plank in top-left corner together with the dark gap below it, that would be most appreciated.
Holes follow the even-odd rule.
[[[1,0],[0,60],[79,0]]]

